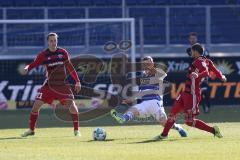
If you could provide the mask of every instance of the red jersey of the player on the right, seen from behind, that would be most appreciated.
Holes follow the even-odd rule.
[[[197,97],[201,96],[200,85],[204,78],[209,76],[210,71],[213,72],[219,79],[222,79],[222,73],[214,66],[210,59],[204,56],[196,58],[192,65],[188,68],[185,92],[191,93]],[[192,72],[195,72],[198,75],[196,79],[191,78]]]

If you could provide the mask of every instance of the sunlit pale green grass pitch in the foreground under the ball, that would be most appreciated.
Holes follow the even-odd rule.
[[[240,123],[213,123],[224,136],[214,138],[190,128],[189,137],[171,131],[164,141],[149,142],[162,130],[158,125],[103,127],[106,141],[93,141],[95,127],[82,127],[82,137],[74,137],[72,128],[40,128],[34,137],[21,138],[25,129],[0,130],[1,160],[123,160],[123,159],[239,159]]]

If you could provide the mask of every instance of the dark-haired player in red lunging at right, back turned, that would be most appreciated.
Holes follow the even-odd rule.
[[[191,48],[191,55],[194,58],[192,65],[189,67],[187,74],[186,88],[177,99],[171,108],[167,123],[163,132],[155,137],[155,140],[165,139],[168,136],[169,130],[176,121],[178,113],[183,112],[185,115],[185,124],[200,130],[212,133],[218,138],[222,138],[220,130],[217,126],[210,127],[205,122],[196,118],[199,114],[199,102],[201,100],[201,82],[205,77],[209,76],[209,72],[213,72],[217,78],[226,81],[226,77],[216,69],[213,62],[203,56],[203,47],[196,43]]]

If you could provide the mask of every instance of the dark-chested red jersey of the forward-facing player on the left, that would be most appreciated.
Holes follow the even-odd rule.
[[[46,80],[44,84],[61,86],[66,84],[67,71],[76,82],[79,82],[77,73],[72,66],[68,52],[57,48],[55,52],[46,49],[40,52],[34,62],[29,65],[28,71],[39,65],[46,67]]]

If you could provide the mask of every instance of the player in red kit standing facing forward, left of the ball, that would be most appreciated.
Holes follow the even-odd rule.
[[[81,89],[80,80],[70,61],[68,52],[57,46],[58,35],[56,33],[49,33],[47,41],[48,48],[40,52],[36,59],[24,68],[24,74],[27,74],[31,69],[39,65],[44,65],[46,67],[46,80],[38,91],[30,113],[29,130],[24,132],[22,136],[27,137],[35,134],[36,121],[40,108],[43,104],[51,104],[54,100],[58,100],[62,105],[69,107],[74,125],[74,135],[80,136],[78,129],[78,108],[73,101],[74,96],[66,80],[67,72],[70,73],[76,82],[74,88],[75,93],[78,93]]]

